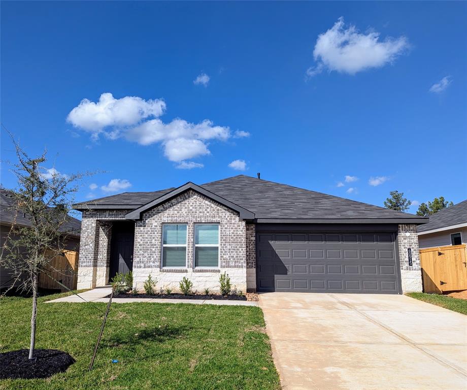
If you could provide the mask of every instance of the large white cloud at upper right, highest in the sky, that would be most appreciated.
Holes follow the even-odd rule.
[[[354,75],[367,69],[381,68],[408,48],[405,37],[387,37],[380,41],[379,32],[363,34],[354,25],[345,28],[341,17],[318,36],[313,50],[316,65],[307,70],[307,76],[316,76],[324,69]]]

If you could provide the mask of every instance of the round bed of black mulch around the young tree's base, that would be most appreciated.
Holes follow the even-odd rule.
[[[0,379],[48,378],[75,363],[68,353],[56,349],[36,349],[36,360],[29,360],[28,355],[28,349],[0,353]]]

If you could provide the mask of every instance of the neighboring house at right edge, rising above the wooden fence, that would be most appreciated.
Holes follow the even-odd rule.
[[[467,200],[430,215],[417,232],[420,248],[466,244]]]

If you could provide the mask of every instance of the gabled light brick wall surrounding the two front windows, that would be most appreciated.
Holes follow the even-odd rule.
[[[178,290],[180,280],[186,276],[193,289],[202,291],[219,289],[219,272],[193,270],[193,236],[195,223],[219,223],[219,268],[231,278],[232,285],[245,292],[247,288],[246,223],[234,212],[205,196],[189,190],[180,196],[144,213],[135,226],[133,277],[137,288],[149,273],[158,280],[157,287]],[[161,234],[163,223],[187,224],[187,266],[184,272],[160,270]],[[180,271],[180,270],[178,270]]]

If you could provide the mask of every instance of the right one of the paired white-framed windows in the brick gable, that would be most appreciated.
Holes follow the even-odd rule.
[[[194,267],[219,268],[219,224],[194,225]]]

